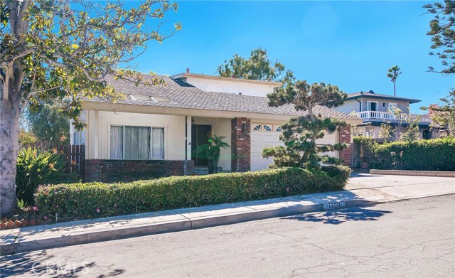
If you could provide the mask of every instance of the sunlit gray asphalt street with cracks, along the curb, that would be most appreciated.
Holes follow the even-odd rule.
[[[455,277],[455,195],[20,253],[2,277]]]

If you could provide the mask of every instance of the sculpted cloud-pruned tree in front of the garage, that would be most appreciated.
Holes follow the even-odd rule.
[[[280,139],[284,146],[269,147],[262,150],[262,156],[274,156],[274,166],[296,166],[307,169],[319,169],[324,164],[341,164],[341,159],[323,155],[326,151],[346,149],[346,143],[316,144],[325,132],[335,132],[346,127],[346,122],[338,119],[323,118],[317,113],[319,106],[336,107],[346,100],[346,93],[337,86],[325,83],[309,84],[305,80],[297,81],[267,95],[269,105],[277,107],[291,104],[296,110],[306,111],[306,116],[295,117],[282,126]]]

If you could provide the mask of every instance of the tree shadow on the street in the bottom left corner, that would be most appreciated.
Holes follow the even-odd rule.
[[[0,277],[91,277],[90,269],[98,267],[95,262],[77,262],[70,256],[68,260],[55,260],[53,255],[48,255],[47,250],[4,256],[0,260]],[[107,269],[107,273],[98,275],[99,278],[114,277],[125,272],[113,265],[100,268]]]

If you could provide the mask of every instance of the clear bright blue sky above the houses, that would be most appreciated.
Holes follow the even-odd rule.
[[[455,77],[428,73],[440,68],[429,56],[426,33],[433,17],[428,1],[178,1],[166,27],[183,29],[164,43],[149,43],[137,69],[164,75],[215,75],[224,60],[264,48],[294,70],[299,80],[327,82],[344,92],[374,90],[393,95],[387,69],[398,65],[397,96],[438,102],[455,87]],[[151,21],[156,22],[156,21]],[[166,28],[163,29],[163,31]]]

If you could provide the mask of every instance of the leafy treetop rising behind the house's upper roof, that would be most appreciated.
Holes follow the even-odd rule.
[[[294,81],[294,73],[286,70],[279,60],[272,62],[267,55],[267,50],[262,48],[251,50],[250,58],[234,54],[222,65],[218,65],[217,73],[223,77],[276,81],[285,84]]]

